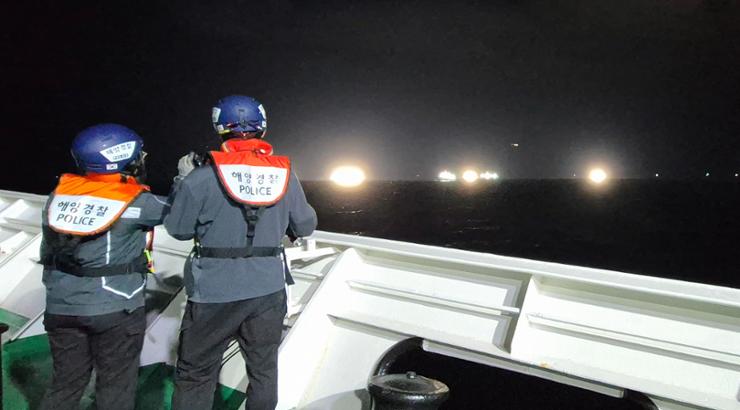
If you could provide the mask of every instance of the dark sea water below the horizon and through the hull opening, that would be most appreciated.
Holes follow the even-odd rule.
[[[740,288],[740,183],[519,180],[474,186],[305,182],[319,229]],[[390,373],[450,387],[442,409],[645,409],[423,350]]]

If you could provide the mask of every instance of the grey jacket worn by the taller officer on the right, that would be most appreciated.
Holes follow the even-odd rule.
[[[170,202],[164,226],[173,237],[196,239],[203,247],[247,245],[244,214],[225,193],[212,167],[196,168],[176,182]],[[260,216],[253,246],[278,247],[288,227],[297,236],[307,236],[316,223],[316,212],[306,201],[298,177],[291,173],[285,196]],[[193,252],[185,264],[185,287],[193,302],[233,302],[283,289],[284,275],[281,257],[222,259],[198,257]]]

